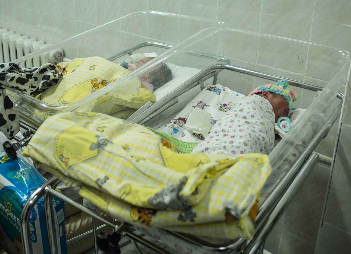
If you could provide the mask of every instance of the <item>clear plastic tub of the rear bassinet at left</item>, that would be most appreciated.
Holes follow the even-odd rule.
[[[167,26],[160,24],[167,24]],[[194,32],[206,27],[222,25],[223,23],[218,21],[186,15],[154,11],[135,12],[46,47],[28,56],[19,58],[14,62],[21,67],[32,67],[45,63],[57,64],[60,62],[69,62],[75,58],[99,56],[118,64],[135,53],[147,53],[147,56],[155,57],[186,39]],[[186,31],[182,29],[184,26],[187,27]],[[209,64],[226,62],[226,59],[218,59],[217,56],[203,56],[200,53],[195,55],[197,56],[195,57],[197,64],[188,63],[187,61],[174,62],[173,64],[172,61],[167,61],[166,55],[164,55],[162,59],[166,63],[170,63],[169,66],[173,72],[173,76],[171,77],[171,81],[167,82],[168,88],[163,88],[162,91],[159,89],[157,92],[158,95],[155,91],[156,99],[167,94],[175,83],[183,83],[187,78],[193,76]],[[205,60],[203,60],[204,57],[206,58]],[[188,64],[179,65],[183,63]],[[140,70],[138,69],[138,77],[145,74],[141,70],[146,66],[148,66],[148,72],[150,72],[160,66],[160,61],[153,59],[153,61],[142,66]],[[129,75],[126,75],[126,77]],[[86,105],[94,104],[96,100],[101,100],[101,97],[104,97],[106,94],[119,93],[115,89],[118,91],[122,89],[121,87],[124,86],[123,83],[128,82],[128,80],[125,80],[126,77],[119,78],[117,81],[113,79],[109,80],[108,91],[103,91],[104,89],[102,89],[69,104],[64,104],[67,103],[64,100],[58,100],[54,104],[45,103],[15,89],[7,89],[7,91],[11,97],[18,100],[15,105],[19,110],[21,122],[27,123],[28,126],[36,129],[49,115],[77,110],[83,104],[87,108]],[[134,80],[136,79],[134,78]],[[128,90],[128,85],[125,84],[125,86],[125,89]],[[126,91],[125,93],[128,92]],[[133,108],[131,113],[136,109]],[[96,108],[86,110],[99,111]],[[104,112],[103,110],[99,112],[109,114],[109,112]]]

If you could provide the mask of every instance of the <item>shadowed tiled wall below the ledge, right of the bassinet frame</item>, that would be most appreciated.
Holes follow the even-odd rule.
[[[265,248],[269,252],[314,252],[329,175],[330,167],[322,163],[312,169],[268,236]]]

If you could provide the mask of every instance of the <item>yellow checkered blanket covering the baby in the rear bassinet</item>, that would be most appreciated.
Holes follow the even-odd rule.
[[[62,80],[58,85],[36,95],[36,99],[52,105],[65,105],[81,100],[106,86],[114,86],[113,90],[108,94],[101,94],[98,99],[89,101],[89,97],[86,97],[81,102],[87,101],[84,111],[104,113],[118,118],[127,118],[146,102],[156,101],[154,94],[143,87],[143,83],[137,77],[113,84],[130,71],[102,57],[76,58],[56,66],[64,75]],[[45,119],[49,115],[36,110],[39,119]]]

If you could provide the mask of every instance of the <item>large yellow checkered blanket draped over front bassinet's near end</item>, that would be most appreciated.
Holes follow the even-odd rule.
[[[264,154],[181,154],[141,125],[98,113],[48,118],[24,155],[120,221],[232,239],[252,237],[271,170]]]

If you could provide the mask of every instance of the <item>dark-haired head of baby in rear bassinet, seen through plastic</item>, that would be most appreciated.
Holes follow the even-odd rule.
[[[172,80],[172,71],[168,68],[167,64],[161,63],[158,67],[139,78],[143,82],[152,84],[156,90]]]

